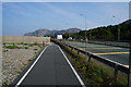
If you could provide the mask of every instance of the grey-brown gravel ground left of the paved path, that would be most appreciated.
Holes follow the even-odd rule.
[[[5,45],[10,46],[10,45]],[[33,59],[35,52],[40,50],[39,47],[33,46],[29,47],[27,45],[15,45],[17,47],[23,47],[22,49],[2,49],[2,78],[3,82],[9,82],[11,84],[17,75],[23,71],[23,67],[27,65],[28,61]],[[4,47],[4,45],[3,45]],[[25,49],[24,47],[28,47]],[[37,49],[37,50],[35,50]]]

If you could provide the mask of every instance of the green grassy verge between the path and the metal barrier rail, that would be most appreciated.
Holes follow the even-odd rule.
[[[76,51],[71,51],[70,48],[61,46],[64,49],[68,58],[73,62],[74,66],[79,69],[80,73],[85,77],[86,82],[93,87],[108,87],[117,86],[124,87],[128,84],[128,76],[121,72],[118,73],[117,80],[114,79],[115,70],[105,65],[94,59],[85,59],[83,53],[76,54]]]

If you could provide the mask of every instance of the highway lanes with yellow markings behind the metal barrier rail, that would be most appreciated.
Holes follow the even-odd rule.
[[[72,45],[74,47],[85,50],[84,42],[66,41],[66,44]],[[128,48],[87,44],[86,51],[104,57],[105,59],[109,59],[115,62],[121,63],[126,66],[129,66],[129,49]]]

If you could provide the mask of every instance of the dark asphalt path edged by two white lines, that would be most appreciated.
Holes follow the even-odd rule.
[[[12,84],[15,87],[33,86],[83,86],[84,83],[76,73],[61,48],[57,45],[43,50],[34,63]]]

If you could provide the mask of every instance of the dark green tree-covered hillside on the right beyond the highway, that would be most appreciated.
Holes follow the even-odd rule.
[[[109,25],[86,30],[87,38],[92,40],[117,40],[118,32],[120,33],[120,40],[131,40],[131,20],[126,21],[119,25]],[[63,38],[83,38],[85,39],[85,30],[74,34],[63,34]]]

